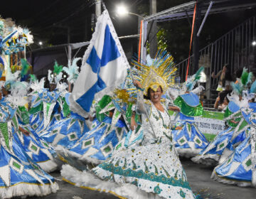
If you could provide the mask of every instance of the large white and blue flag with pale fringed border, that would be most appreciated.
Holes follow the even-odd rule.
[[[71,93],[70,109],[87,117],[92,100],[122,84],[129,63],[107,10],[97,18],[95,32],[82,58],[81,72]]]

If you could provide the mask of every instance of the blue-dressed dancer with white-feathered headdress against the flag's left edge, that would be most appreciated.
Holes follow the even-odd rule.
[[[69,83],[74,83],[78,77],[78,65],[76,64],[78,60],[80,58],[75,58],[72,64],[68,63],[68,68],[63,68],[68,73]],[[61,85],[60,82],[57,82],[57,90],[60,94],[57,101],[60,104],[61,115],[64,118],[50,122],[49,127],[40,136],[55,148],[61,146],[63,149],[70,149],[81,136],[89,131],[89,127],[87,127],[87,119],[75,112],[70,112],[68,101],[70,93]],[[61,147],[60,149],[62,149]]]

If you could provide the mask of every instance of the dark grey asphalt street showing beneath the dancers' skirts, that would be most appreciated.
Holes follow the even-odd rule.
[[[182,159],[181,163],[186,171],[188,182],[194,193],[199,193],[204,199],[253,199],[256,198],[256,188],[240,188],[235,185],[225,185],[210,179],[213,168]],[[52,173],[61,179],[60,173]],[[58,193],[37,199],[117,199],[114,195],[100,193],[94,190],[77,188],[63,181],[58,182]],[[33,197],[35,198],[35,197]],[[30,198],[31,199],[31,198]]]

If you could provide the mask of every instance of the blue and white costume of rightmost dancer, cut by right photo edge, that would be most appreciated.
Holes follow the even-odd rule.
[[[247,127],[247,137],[232,154],[214,168],[211,178],[221,183],[256,187],[256,103],[240,109],[229,119],[240,117],[240,128]]]

